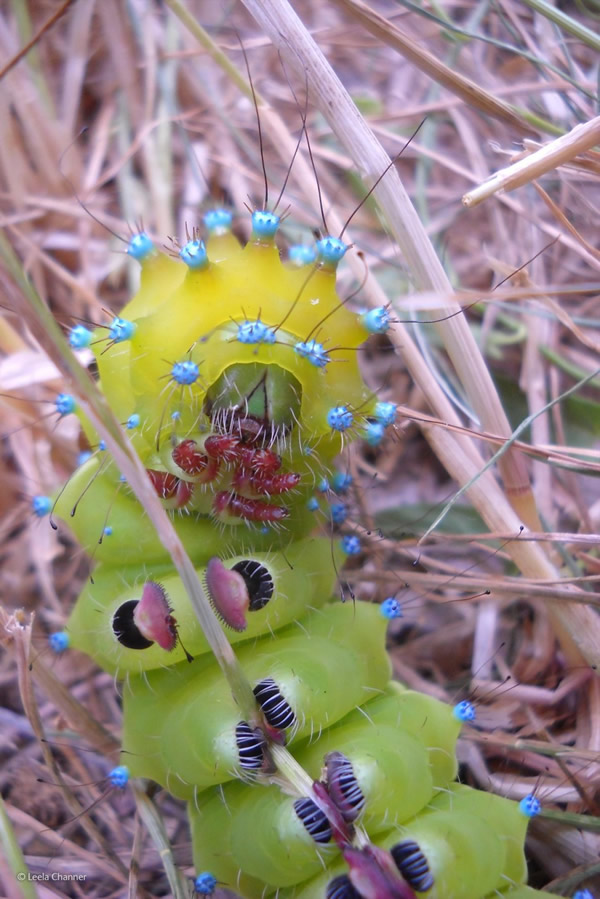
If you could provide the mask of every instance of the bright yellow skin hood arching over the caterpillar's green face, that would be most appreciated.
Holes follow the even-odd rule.
[[[363,417],[371,411],[374,400],[360,375],[355,352],[367,332],[359,316],[342,305],[334,272],[315,266],[290,269],[274,246],[259,243],[247,244],[220,262],[209,262],[200,271],[167,258],[165,271],[169,277],[172,271],[175,276],[170,281],[161,271],[162,293],[145,277],[146,266],[159,267],[154,257],[144,262],[140,291],[121,312],[122,318],[136,324],[132,339],[108,349],[100,343],[96,353],[108,401],[123,415],[141,414],[150,445],[155,442],[165,406],[175,407],[183,393],[182,404],[192,406],[197,414],[208,387],[234,363],[277,364],[297,378],[307,439],[330,436],[327,412],[332,406],[360,408]],[[166,289],[167,283],[170,289]],[[275,331],[275,344],[237,340],[237,325],[258,318]],[[328,335],[335,337],[328,339]],[[298,341],[309,338],[331,354],[323,368],[294,350]],[[185,359],[198,365],[199,378],[181,388],[170,380],[170,371]],[[133,403],[130,390],[136,397]],[[165,397],[162,403],[157,401],[161,394]],[[328,447],[320,447],[322,457],[326,454],[332,459],[337,452],[339,441],[329,452]]]

